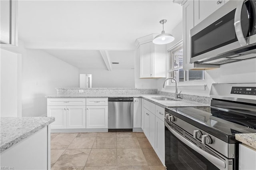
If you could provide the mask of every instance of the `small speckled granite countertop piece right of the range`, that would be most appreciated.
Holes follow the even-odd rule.
[[[242,142],[243,144],[256,149],[256,133],[239,133],[235,134],[236,140]]]

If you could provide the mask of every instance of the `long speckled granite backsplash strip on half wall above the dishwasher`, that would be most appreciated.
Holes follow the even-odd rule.
[[[79,93],[79,90],[84,92]],[[127,95],[127,94],[156,94],[157,89],[132,89],[132,88],[57,88],[57,95]]]

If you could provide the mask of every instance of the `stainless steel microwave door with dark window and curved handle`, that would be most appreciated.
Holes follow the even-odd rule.
[[[251,1],[230,1],[190,31],[190,63],[249,45]]]

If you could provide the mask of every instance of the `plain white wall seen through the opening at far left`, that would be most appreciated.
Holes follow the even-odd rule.
[[[0,117],[21,117],[21,56],[0,50]]]

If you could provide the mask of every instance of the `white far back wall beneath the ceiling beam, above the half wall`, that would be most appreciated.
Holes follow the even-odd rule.
[[[92,88],[134,88],[134,69],[79,69],[80,74],[92,74]]]

